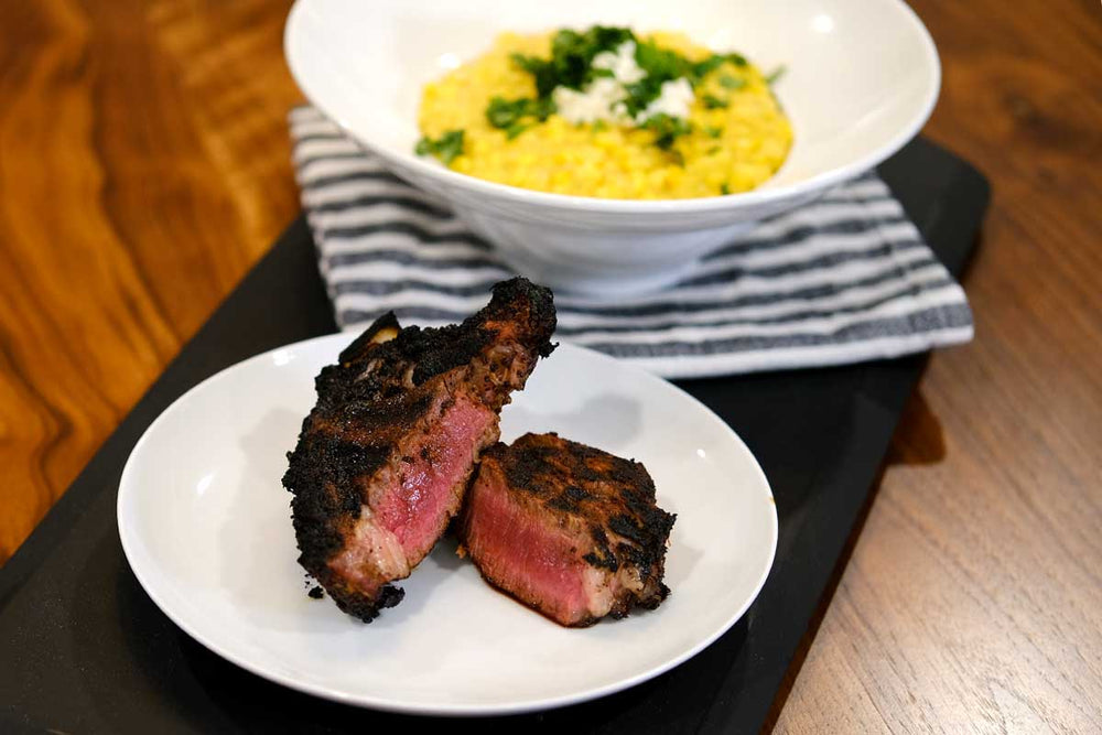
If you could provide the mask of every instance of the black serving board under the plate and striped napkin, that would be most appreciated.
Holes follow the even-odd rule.
[[[987,205],[983,176],[921,139],[887,161],[880,174],[960,274]],[[0,732],[344,733],[418,724],[315,700],[222,660],[161,614],[119,545],[119,476],[150,422],[217,370],[334,329],[300,217],[0,570]],[[773,485],[780,541],[757,602],[699,656],[626,692],[465,724],[484,732],[757,732],[823,604],[925,364],[916,356],[681,381],[738,432]]]

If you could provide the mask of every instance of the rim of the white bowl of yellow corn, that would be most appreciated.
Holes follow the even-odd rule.
[[[439,180],[443,185],[450,185],[467,190],[475,194],[482,194],[487,198],[505,202],[509,204],[542,206],[559,210],[587,212],[598,214],[704,214],[715,212],[728,212],[732,208],[756,207],[777,205],[789,199],[810,197],[830,186],[849,181],[877,165],[895,154],[907,142],[915,138],[937,105],[941,93],[941,60],[938,55],[937,45],[933,37],[918,13],[905,2],[905,0],[880,0],[882,2],[895,6],[901,11],[905,22],[911,24],[911,29],[917,33],[919,43],[926,55],[926,60],[931,71],[931,84],[926,99],[917,115],[893,136],[883,145],[874,149],[865,155],[851,161],[841,166],[815,174],[791,184],[785,184],[775,188],[756,188],[748,192],[737,192],[735,194],[722,194],[720,196],[691,197],[680,199],[618,199],[604,198],[597,196],[577,196],[574,194],[557,194],[552,192],[540,192],[537,190],[522,188],[511,184],[478,179],[469,174],[452,171],[451,169],[435,162],[424,160],[421,156],[409,153],[395,153],[386,148],[375,145],[358,134],[353,127],[335,110],[315,98],[309,85],[304,84],[304,75],[299,68],[299,62],[292,52],[291,35],[294,33],[296,19],[303,13],[303,8],[313,0],[295,0],[288,13],[287,23],[283,26],[283,56],[287,61],[291,76],[298,84],[306,100],[322,111],[325,117],[337,125],[345,133],[368,149],[375,155],[382,159],[388,167],[401,175],[403,170],[411,173]]]

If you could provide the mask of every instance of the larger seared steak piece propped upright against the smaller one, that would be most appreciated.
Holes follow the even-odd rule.
[[[460,325],[399,331],[388,314],[322,370],[283,485],[299,562],[341,609],[369,621],[401,601],[390,582],[458,510],[554,326],[551,292],[518,278]]]

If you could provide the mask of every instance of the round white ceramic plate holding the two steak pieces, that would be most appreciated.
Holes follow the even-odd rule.
[[[370,625],[306,595],[280,485],[314,376],[348,335],[259,355],[193,388],[134,446],[119,487],[122,548],[165,615],[226,659],[304,692],[432,714],[539,710],[655,677],[754,601],[777,544],[761,469],[715,414],[670,383],[562,345],[503,412],[503,439],[558,431],[644,462],[678,514],[670,597],[561,628],[494,592],[445,538]]]

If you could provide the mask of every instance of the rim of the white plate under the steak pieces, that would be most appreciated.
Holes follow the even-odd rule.
[[[639,671],[630,677],[618,679],[608,684],[601,687],[595,687],[586,689],[581,692],[573,692],[568,694],[558,694],[544,698],[529,698],[527,700],[517,700],[510,703],[441,703],[426,705],[421,702],[410,702],[403,700],[397,700],[392,696],[379,696],[378,694],[352,694],[345,691],[334,690],[322,684],[301,681],[294,679],[290,675],[284,675],[280,672],[269,670],[262,666],[255,664],[249,660],[248,656],[239,655],[237,651],[231,651],[222,646],[213,637],[207,636],[202,630],[196,629],[186,621],[183,616],[177,615],[173,612],[171,605],[166,604],[164,598],[158,591],[156,584],[152,583],[149,576],[143,575],[141,570],[141,564],[134,563],[134,555],[139,553],[137,544],[140,542],[139,536],[133,529],[129,528],[127,522],[126,514],[128,510],[128,498],[133,496],[137,490],[128,489],[136,486],[133,480],[130,480],[131,474],[134,472],[136,466],[134,457],[142,451],[142,447],[150,441],[150,436],[153,434],[154,429],[175,411],[182,410],[183,403],[193,393],[198,392],[210,383],[217,382],[218,380],[225,379],[228,374],[245,369],[246,366],[252,363],[260,363],[270,359],[272,355],[280,350],[292,349],[292,348],[305,348],[314,346],[318,343],[333,342],[334,345],[339,344],[342,341],[350,342],[355,338],[355,332],[336,332],[328,335],[322,335],[317,337],[311,337],[307,339],[302,339],[299,342],[290,343],[279,347],[273,347],[272,349],[264,350],[251,357],[247,357],[239,360],[233,365],[229,365],[217,372],[208,376],[202,381],[195,383],[186,391],[181,393],[175,400],[172,401],[163,411],[161,411],[158,417],[150,422],[150,424],[142,432],[142,435],[134,443],[133,448],[127,457],[126,465],[122,468],[122,474],[119,478],[119,487],[116,498],[116,527],[119,534],[119,541],[122,545],[122,552],[126,556],[127,564],[129,565],[134,577],[138,580],[139,585],[142,591],[149,596],[149,598],[156,605],[158,609],[168,617],[173,625],[183,630],[190,638],[201,644],[207,650],[216,653],[218,657],[228,661],[229,663],[237,666],[252,674],[256,674],[262,679],[271,681],[273,683],[287,687],[289,689],[303,692],[313,696],[317,696],[332,702],[338,702],[342,704],[353,705],[357,707],[366,707],[372,710],[379,710],[383,712],[395,712],[400,714],[412,714],[412,715],[432,715],[432,716],[458,716],[458,717],[473,717],[473,716],[486,716],[486,715],[509,715],[509,714],[523,714],[529,712],[540,712],[545,710],[553,710],[559,707],[569,706],[572,704],[580,704],[582,702],[588,702],[597,700],[616,692],[630,689],[637,684],[645,681],[649,681],[656,677],[659,677],[667,671],[684,663],[689,659],[693,658],[705,648],[711,646],[721,636],[727,633],[742,617],[746,614],[749,607],[757,599],[758,595],[761,593],[761,588],[765,586],[766,581],[773,571],[774,563],[776,562],[777,555],[777,543],[779,538],[779,520],[777,515],[776,499],[773,495],[773,487],[769,484],[769,479],[765,472],[761,469],[761,465],[758,463],[757,457],[750,452],[749,447],[742,440],[741,436],[732,429],[723,419],[721,419],[712,409],[705,406],[703,402],[698,400],[695,397],[691,396],[682,388],[674,386],[672,382],[665,380],[652,372],[649,372],[638,366],[617,360],[616,358],[605,355],[603,353],[590,349],[588,347],[583,347],[581,345],[575,345],[569,341],[560,341],[560,349],[566,347],[568,350],[583,353],[587,358],[597,358],[599,361],[605,361],[606,364],[615,365],[617,370],[629,370],[642,377],[645,380],[657,381],[661,383],[663,389],[673,390],[676,393],[680,394],[680,398],[688,399],[694,403],[699,409],[703,411],[703,414],[707,417],[709,421],[716,422],[721,430],[723,430],[730,439],[733,439],[736,446],[739,447],[741,452],[745,454],[745,457],[749,460],[749,465],[752,467],[753,474],[757,476],[760,480],[761,488],[765,490],[767,498],[769,499],[769,523],[768,523],[768,537],[770,541],[770,549],[767,554],[767,562],[763,565],[761,571],[758,573],[758,579],[754,584],[753,593],[749,594],[746,601],[738,607],[735,613],[733,613],[730,618],[720,625],[714,631],[703,637],[701,640],[696,641],[693,646],[689,647],[684,651],[671,657],[668,661],[663,661],[658,666],[647,668]],[[339,352],[339,350],[337,350]],[[335,357],[336,353],[334,353]]]

